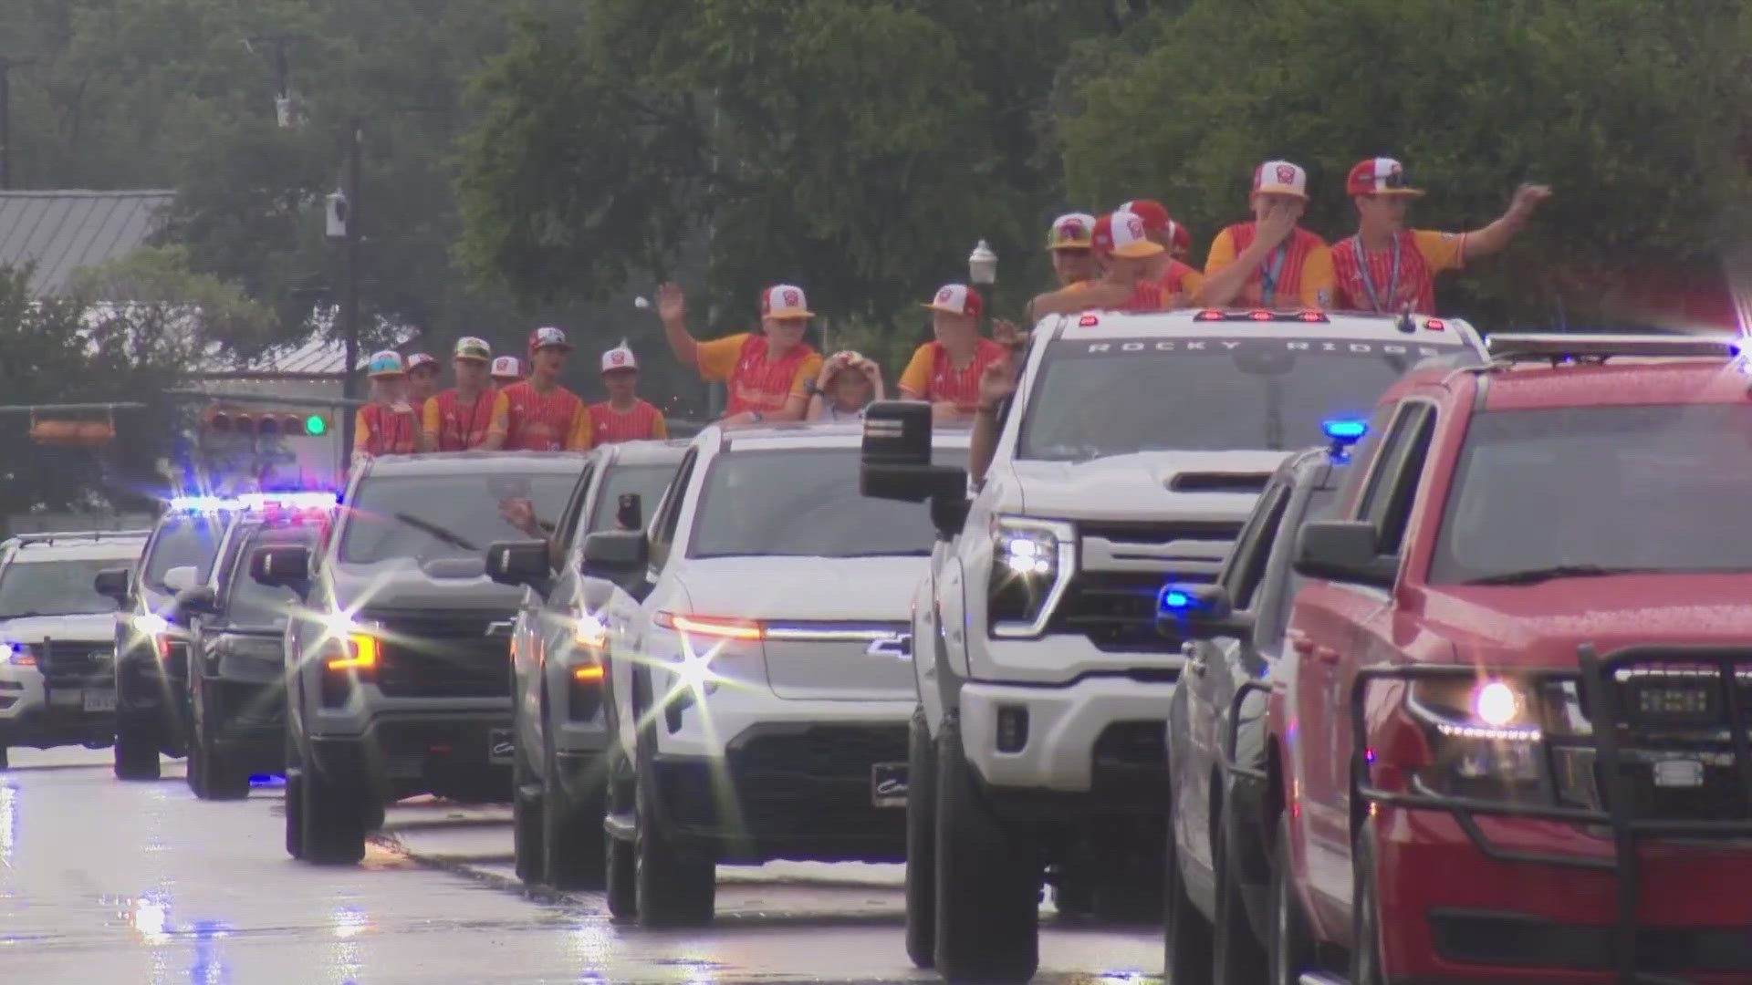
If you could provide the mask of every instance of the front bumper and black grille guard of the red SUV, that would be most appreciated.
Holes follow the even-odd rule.
[[[1524,673],[1533,687],[1575,682],[1579,720],[1540,712],[1535,748],[1591,755],[1603,806],[1540,797],[1484,801],[1426,787],[1375,787],[1365,710],[1368,684],[1475,678],[1473,666],[1395,666],[1358,673],[1353,771],[1379,857],[1382,964],[1393,981],[1682,981],[1752,980],[1752,650],[1628,647],[1579,652],[1579,671]],[[1699,717],[1635,710],[1638,685],[1715,687]],[[1666,713],[1664,708],[1656,713]],[[1726,738],[1722,738],[1726,736]],[[1677,743],[1677,745],[1675,745]],[[1645,754],[1696,762],[1696,790],[1717,794],[1675,811],[1650,796]],[[1712,766],[1703,766],[1710,762]],[[1724,764],[1726,766],[1720,766]],[[1657,764],[1666,764],[1659,762]],[[1396,776],[1398,764],[1384,775]],[[1710,778],[1715,771],[1713,780]],[[1726,783],[1722,783],[1726,778]],[[1398,782],[1398,780],[1396,780]],[[1402,785],[1402,783],[1400,783]],[[1706,808],[1696,804],[1708,804]]]

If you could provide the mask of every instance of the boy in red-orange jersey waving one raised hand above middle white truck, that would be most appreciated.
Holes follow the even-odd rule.
[[[802,421],[809,407],[806,386],[822,372],[822,356],[802,340],[815,317],[802,287],[776,284],[760,291],[759,333],[697,342],[687,331],[687,300],[675,284],[659,287],[657,315],[676,359],[706,382],[727,384],[724,424]]]

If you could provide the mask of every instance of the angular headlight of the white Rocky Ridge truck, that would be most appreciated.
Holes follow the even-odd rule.
[[[1076,568],[1076,528],[1028,517],[992,519],[986,613],[993,636],[1039,636]]]

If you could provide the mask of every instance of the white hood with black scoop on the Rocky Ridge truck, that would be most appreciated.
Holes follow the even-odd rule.
[[[997,508],[1030,517],[1090,521],[1247,515],[1289,452],[1135,452],[1069,461],[1011,461]]]

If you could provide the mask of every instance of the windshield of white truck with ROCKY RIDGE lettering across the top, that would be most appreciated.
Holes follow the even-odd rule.
[[[1367,419],[1405,370],[1454,352],[1465,347],[1289,335],[1056,340],[1032,387],[1016,457],[1318,445],[1321,421]]]

